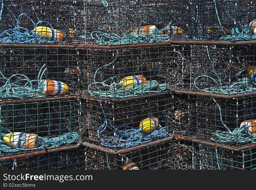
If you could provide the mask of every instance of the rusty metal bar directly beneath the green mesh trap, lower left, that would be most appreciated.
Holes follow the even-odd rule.
[[[15,159],[15,158],[24,158],[27,156],[35,156],[35,155],[47,154],[47,153],[52,153],[52,152],[65,151],[65,150],[72,150],[72,149],[77,149],[78,147],[79,147],[79,145],[73,145],[73,146],[65,146],[65,147],[61,147],[61,148],[48,149],[48,150],[43,150],[43,151],[35,151],[35,152],[24,153],[24,154],[10,155],[10,156],[1,157],[0,161],[11,160],[11,159]]]

